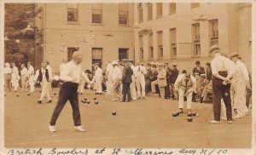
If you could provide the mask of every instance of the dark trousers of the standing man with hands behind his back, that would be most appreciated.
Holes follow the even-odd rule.
[[[226,106],[226,115],[227,120],[232,120],[232,108],[231,108],[231,98],[230,98],[230,85],[222,86],[218,83],[218,78],[212,77],[212,90],[213,90],[213,114],[214,120],[220,121],[220,112],[221,112],[221,99],[224,100]]]

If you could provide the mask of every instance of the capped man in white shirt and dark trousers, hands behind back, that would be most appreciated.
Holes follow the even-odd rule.
[[[210,123],[220,123],[221,99],[224,100],[226,106],[227,122],[232,123],[230,79],[233,77],[236,66],[230,59],[220,55],[219,50],[216,45],[210,49],[210,53],[214,56],[211,62],[214,120]]]

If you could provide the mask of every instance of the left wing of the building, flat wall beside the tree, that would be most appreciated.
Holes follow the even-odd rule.
[[[84,55],[83,67],[98,62],[134,58],[132,3],[44,3],[44,60],[55,72],[61,60],[70,60],[73,51]]]

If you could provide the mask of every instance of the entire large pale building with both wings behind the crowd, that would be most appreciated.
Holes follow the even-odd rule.
[[[170,61],[189,71],[195,60],[210,61],[218,44],[226,54],[238,52],[251,70],[250,3],[44,3],[43,60],[55,71],[74,50],[84,68],[94,62]]]

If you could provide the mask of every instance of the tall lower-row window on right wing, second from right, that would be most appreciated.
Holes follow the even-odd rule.
[[[200,46],[200,24],[196,23],[192,25],[192,39],[193,39],[193,55],[201,55]]]

